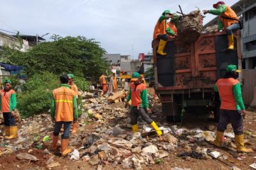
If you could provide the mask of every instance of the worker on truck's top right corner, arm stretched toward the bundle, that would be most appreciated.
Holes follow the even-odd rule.
[[[223,28],[226,30],[228,35],[228,50],[234,49],[234,36],[233,32],[240,29],[239,18],[230,6],[226,5],[223,1],[218,1],[213,4],[211,10],[203,10],[203,13],[211,13],[219,16],[220,21],[218,22],[218,30]]]

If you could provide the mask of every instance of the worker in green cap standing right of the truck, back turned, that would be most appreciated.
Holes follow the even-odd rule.
[[[242,101],[241,86],[238,79],[239,69],[235,65],[228,65],[223,79],[219,79],[214,86],[215,91],[220,94],[220,119],[218,122],[216,139],[213,145],[220,147],[223,133],[231,123],[235,133],[235,145],[238,152],[252,152],[252,149],[245,148],[242,127],[242,118],[245,118],[245,105]]]

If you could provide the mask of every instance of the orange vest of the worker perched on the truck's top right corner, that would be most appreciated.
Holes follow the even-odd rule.
[[[223,18],[221,16],[228,17],[228,18],[235,18],[235,20]],[[219,18],[220,18],[220,21],[223,23],[223,27],[225,29],[227,29],[233,23],[238,23],[238,16],[236,15],[235,11],[233,11],[233,9],[227,5],[226,5],[226,11],[221,13]]]

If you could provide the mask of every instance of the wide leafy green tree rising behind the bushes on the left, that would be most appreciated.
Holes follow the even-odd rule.
[[[105,50],[100,42],[82,36],[52,36],[52,42],[42,42],[28,52],[4,49],[0,56],[6,56],[11,64],[22,65],[28,77],[40,72],[63,74],[71,72],[82,77],[95,79],[106,72],[110,65],[102,56]]]

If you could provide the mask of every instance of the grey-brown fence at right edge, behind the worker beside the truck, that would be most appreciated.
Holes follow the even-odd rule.
[[[256,69],[243,69],[242,70],[242,99],[245,105],[249,105],[253,99],[254,87],[256,86]]]

